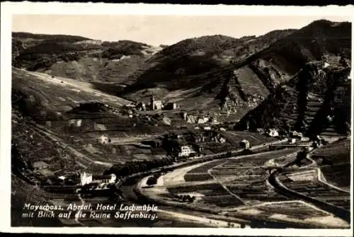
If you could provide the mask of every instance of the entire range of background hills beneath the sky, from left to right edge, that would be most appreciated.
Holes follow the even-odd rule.
[[[154,94],[184,110],[221,110],[239,118],[275,96],[280,85],[297,93],[287,82],[295,83],[309,62],[350,64],[351,52],[351,24],[325,20],[258,37],[209,35],[163,47],[22,34],[13,37],[15,67],[103,83],[110,93],[119,87],[116,95],[134,101]]]

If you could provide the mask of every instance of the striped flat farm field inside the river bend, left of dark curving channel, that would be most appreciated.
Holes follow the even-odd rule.
[[[164,179],[164,183],[150,187],[146,192],[152,194],[156,188],[155,197],[174,202],[182,202],[178,200],[181,195],[190,195],[195,197],[195,201],[186,204],[199,205],[198,207],[212,206],[220,211],[244,204],[285,201],[288,200],[287,197],[278,195],[268,185],[268,173],[262,167],[272,158],[292,154],[298,150],[294,148],[244,158],[226,158],[200,164],[184,172],[175,170],[168,174],[171,182],[166,181],[162,175],[159,179]]]

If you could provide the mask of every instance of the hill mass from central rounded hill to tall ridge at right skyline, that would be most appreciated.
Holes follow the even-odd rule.
[[[314,21],[299,30],[274,30],[235,39],[212,35],[164,48],[131,75],[122,96],[179,101],[185,109],[255,108],[307,62],[350,57],[350,23]],[[337,60],[338,61],[338,60]]]

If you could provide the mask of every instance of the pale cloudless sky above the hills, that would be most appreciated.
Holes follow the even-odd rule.
[[[117,16],[13,15],[12,31],[80,35],[94,40],[133,40],[172,45],[203,35],[263,35],[271,30],[302,28],[319,19],[348,21],[341,16]]]

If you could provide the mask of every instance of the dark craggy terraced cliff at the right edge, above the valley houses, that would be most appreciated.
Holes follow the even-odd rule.
[[[345,134],[350,123],[350,68],[324,67],[324,62],[305,64],[299,74],[278,86],[263,103],[251,110],[235,129],[277,127],[321,134]]]

